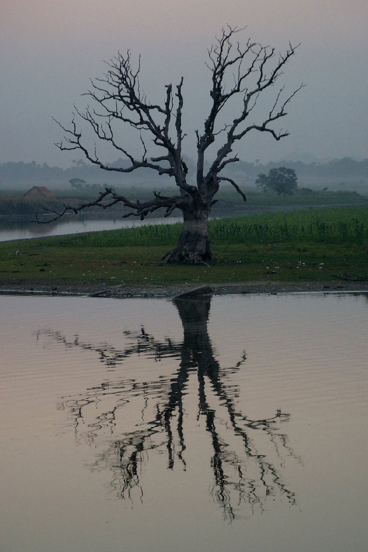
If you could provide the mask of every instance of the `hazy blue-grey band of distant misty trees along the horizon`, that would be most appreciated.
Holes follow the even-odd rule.
[[[111,165],[121,167],[124,166],[124,163],[126,161],[118,159]],[[195,160],[185,157],[185,163],[189,169],[188,182],[194,182]],[[227,167],[227,174],[235,179],[242,188],[254,188],[259,173],[268,173],[270,169],[280,166],[294,169],[298,178],[298,188],[324,189],[327,186],[330,190],[355,190],[367,195],[368,159],[356,161],[345,157],[340,160],[328,162],[319,160],[310,163],[282,160],[265,164],[239,160]],[[167,175],[160,176],[156,171],[140,168],[131,173],[106,172],[82,158],[74,161],[72,166],[67,168],[49,166],[46,162],[39,164],[35,161],[31,163],[23,161],[0,163],[0,190],[26,190],[34,185],[44,185],[50,189],[70,188],[70,181],[73,178],[82,179],[91,192],[93,187],[104,187],[105,185],[117,188],[141,186],[152,190],[175,187],[172,178]]]

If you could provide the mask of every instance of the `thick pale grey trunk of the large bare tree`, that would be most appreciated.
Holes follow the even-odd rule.
[[[189,212],[183,211],[183,228],[178,245],[167,253],[166,262],[202,263],[212,259],[210,240],[207,233],[207,220],[210,209],[201,205]]]

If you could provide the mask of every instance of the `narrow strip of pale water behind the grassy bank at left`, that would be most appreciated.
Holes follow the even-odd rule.
[[[178,217],[152,218],[140,220],[136,217],[130,219],[69,219],[68,216],[50,224],[37,224],[29,221],[9,221],[0,217],[0,242],[10,240],[23,240],[34,237],[61,236],[79,232],[95,232],[101,230],[119,230],[131,226],[145,224],[174,224],[182,219]]]

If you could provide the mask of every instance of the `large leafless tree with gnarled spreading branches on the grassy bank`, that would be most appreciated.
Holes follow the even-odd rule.
[[[266,132],[275,140],[289,135],[287,130],[276,130],[274,123],[287,114],[287,104],[303,86],[285,94],[284,85],[281,85],[260,121],[248,123],[260,95],[278,81],[297,46],[289,44],[284,55],[275,57],[274,48],[254,43],[250,39],[242,47],[236,41],[237,34],[242,30],[230,26],[222,29],[221,37],[216,39],[208,51],[209,61],[206,65],[212,77],[210,110],[204,128],[196,131],[196,184],[188,182],[188,167],[182,153],[185,137],[182,126],[183,78],[176,87],[172,84],[166,86],[166,98],[161,105],[152,104],[140,86],[140,60],[134,68],[131,52],[127,51],[126,55],[119,52],[108,63],[105,75],[91,81],[92,88],[86,93],[97,107],[87,107],[84,113],[76,108],[70,128],[59,123],[66,134],[65,139],[56,145],[60,150],[81,150],[90,162],[105,171],[130,173],[147,168],[160,175],[167,174],[174,178],[179,193],[164,197],[153,192],[152,199],[140,201],[126,198],[114,188],[106,187],[96,200],[77,208],[66,205],[60,213],[55,213],[56,218],[66,211],[78,213],[92,205],[108,208],[119,202],[131,209],[124,216],[135,215],[142,220],[157,209],[166,209],[165,216],[179,209],[183,214],[183,229],[177,246],[164,257],[166,261],[204,262],[212,258],[207,220],[216,202],[214,197],[220,183],[233,185],[246,201],[238,184],[223,174],[229,163],[238,161],[237,155],[231,155],[234,145],[254,130]],[[223,125],[219,115],[225,107],[230,107],[238,115],[232,122]],[[255,111],[253,113],[257,118]],[[92,148],[86,145],[86,134],[84,131],[82,134],[77,121],[90,126],[99,143],[106,143],[119,152],[126,160],[126,163],[122,163],[124,166],[104,163],[97,153],[96,145]],[[128,145],[124,145],[121,125],[138,133],[141,142],[139,157],[130,152]],[[218,149],[217,153],[212,153],[213,160],[206,160],[205,163],[206,154],[211,155],[211,150],[207,150],[211,145],[216,148],[216,144]]]

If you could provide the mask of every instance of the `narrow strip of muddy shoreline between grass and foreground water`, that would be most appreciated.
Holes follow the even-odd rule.
[[[302,292],[368,292],[368,282],[336,280],[333,282],[242,282],[231,284],[89,285],[89,284],[3,284],[0,295],[56,295],[105,298],[166,298],[190,295],[275,294]]]

